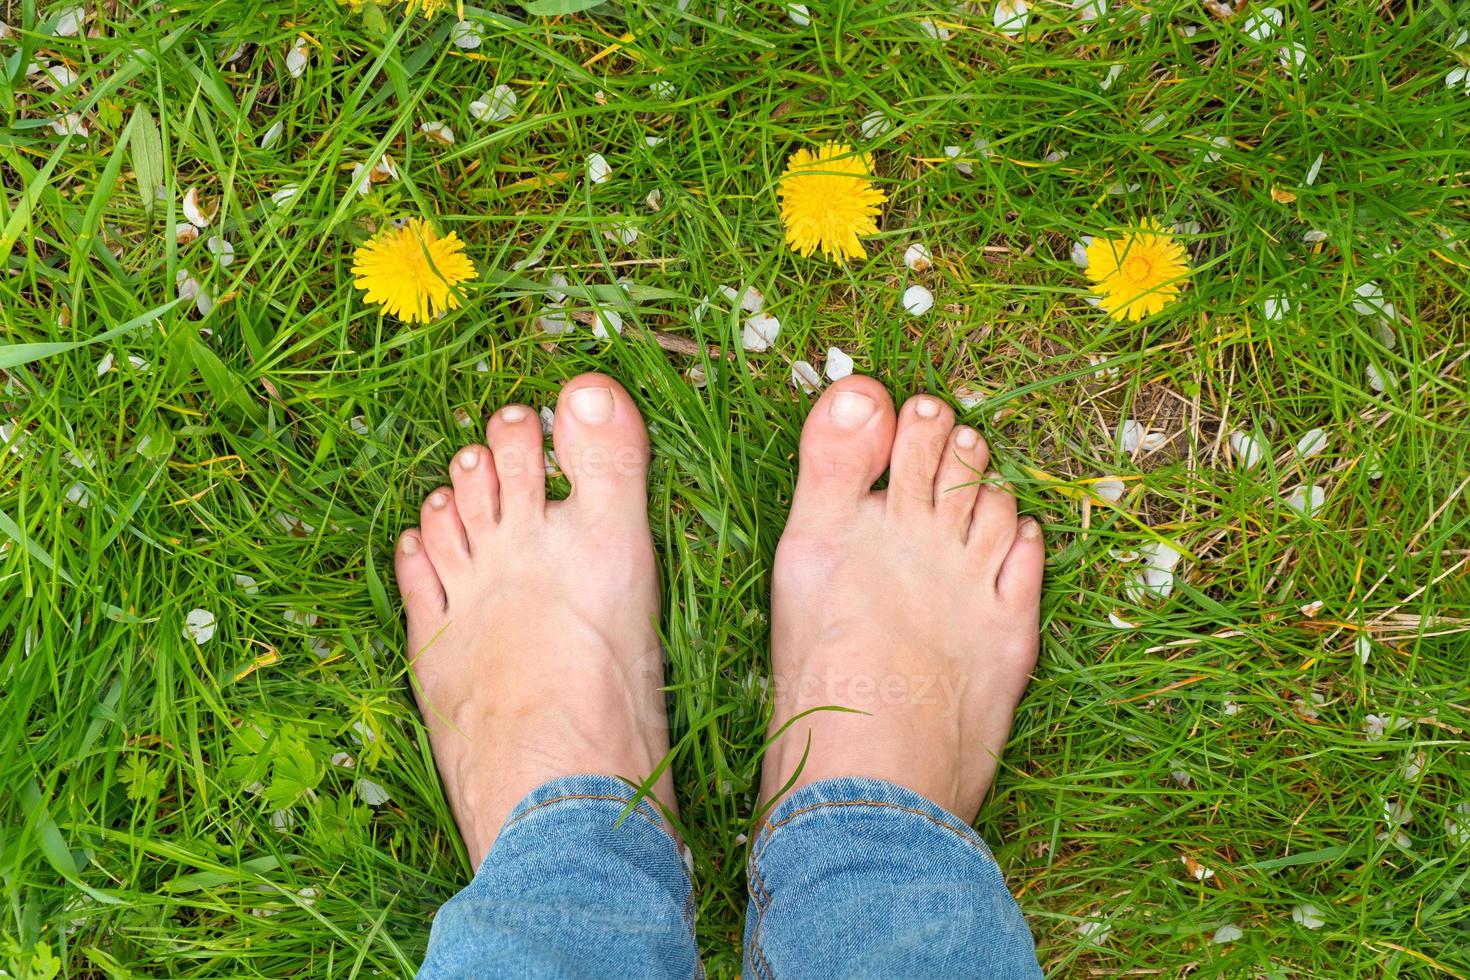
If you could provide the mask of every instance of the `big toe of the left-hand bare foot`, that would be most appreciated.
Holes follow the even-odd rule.
[[[607,375],[579,375],[557,398],[551,430],[556,460],[576,507],[647,507],[648,432],[638,407]]]

